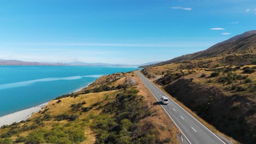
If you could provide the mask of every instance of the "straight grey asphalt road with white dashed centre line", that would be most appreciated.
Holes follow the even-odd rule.
[[[141,80],[158,101],[161,101],[162,96],[165,96],[169,99],[168,105],[163,105],[160,102],[159,103],[166,111],[168,116],[170,116],[172,121],[177,125],[179,130],[181,130],[183,136],[189,143],[225,143],[223,140],[219,139],[219,137],[213,134],[209,129],[207,129],[203,124],[197,121],[193,116],[191,116],[187,111],[185,111],[181,106],[179,106],[175,101],[169,98],[158,87],[153,85],[153,83],[151,83],[139,71],[137,71],[137,74],[139,77],[141,77]]]

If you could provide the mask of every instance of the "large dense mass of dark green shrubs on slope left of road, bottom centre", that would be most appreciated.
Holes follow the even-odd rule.
[[[125,89],[116,95],[114,101],[104,106],[103,112],[91,123],[92,130],[97,134],[95,143],[142,143],[155,140],[155,132],[150,132],[151,127],[143,135],[135,134],[139,120],[152,113],[143,102],[144,97],[137,95],[138,92],[135,88]]]

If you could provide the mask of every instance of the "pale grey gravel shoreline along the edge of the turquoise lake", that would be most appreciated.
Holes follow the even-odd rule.
[[[84,87],[78,88],[73,93],[77,93],[79,91],[82,91],[82,89],[90,86],[91,83],[93,83],[93,82],[88,83],[88,85],[86,85]],[[54,99],[52,99],[52,100],[54,100]],[[28,118],[30,118],[33,115],[33,113],[36,113],[36,112],[40,111],[46,105],[48,105],[48,103],[49,103],[49,101],[46,102],[46,103],[34,106],[34,107],[30,107],[30,108],[25,109],[25,110],[17,111],[17,112],[10,113],[8,115],[4,115],[4,116],[0,117],[0,128],[3,125],[10,125],[10,124],[13,124],[13,123],[19,123],[21,121],[26,121]]]

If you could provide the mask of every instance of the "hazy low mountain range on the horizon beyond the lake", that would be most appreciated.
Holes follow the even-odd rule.
[[[25,62],[18,60],[0,59],[0,65],[55,65],[55,66],[105,66],[105,67],[141,67],[143,65],[155,64],[159,62],[150,62],[144,64],[110,64],[110,63],[85,63],[85,62]]]

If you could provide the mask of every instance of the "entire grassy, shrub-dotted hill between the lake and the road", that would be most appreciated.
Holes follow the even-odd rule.
[[[135,72],[102,76],[0,128],[0,143],[178,143],[174,123],[154,103]]]

